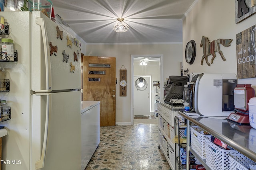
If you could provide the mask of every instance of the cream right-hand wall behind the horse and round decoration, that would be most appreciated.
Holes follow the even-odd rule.
[[[256,24],[256,14],[241,21],[235,22],[235,1],[234,0],[197,0],[186,18],[183,20],[183,51],[191,39],[196,42],[196,59],[193,64],[186,63],[183,54],[183,68],[189,72],[206,73],[235,73],[236,66],[236,34]],[[200,65],[203,56],[203,48],[200,47],[202,35],[210,41],[219,38],[233,39],[230,47],[220,45],[226,61],[222,61],[216,53],[213,64],[208,66],[204,60]],[[209,56],[209,61],[212,57]],[[256,86],[256,78],[239,79],[240,84],[252,84]]]

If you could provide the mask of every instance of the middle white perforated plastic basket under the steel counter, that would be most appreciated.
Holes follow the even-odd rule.
[[[212,170],[230,170],[230,158],[228,154],[238,154],[236,150],[221,149],[209,139],[205,138],[206,142],[206,164]]]

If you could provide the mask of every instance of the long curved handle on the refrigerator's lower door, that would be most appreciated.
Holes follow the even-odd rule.
[[[52,94],[40,93],[35,95],[46,96],[46,116],[45,116],[45,127],[44,127],[44,141],[41,152],[41,158],[36,162],[36,169],[44,168],[44,160],[46,155],[47,137],[48,137],[48,126],[49,126],[49,115],[52,111]]]

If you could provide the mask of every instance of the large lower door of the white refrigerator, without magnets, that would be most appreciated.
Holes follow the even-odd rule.
[[[47,120],[47,98],[50,111],[45,159],[44,135]],[[81,114],[80,91],[61,92],[47,95],[32,95],[32,137],[31,170],[42,160],[40,170],[80,170],[81,169]]]

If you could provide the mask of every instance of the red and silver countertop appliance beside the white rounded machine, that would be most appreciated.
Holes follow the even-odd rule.
[[[248,102],[255,96],[252,84],[237,84],[234,89],[234,113],[228,116],[228,120],[239,124],[250,124]]]

